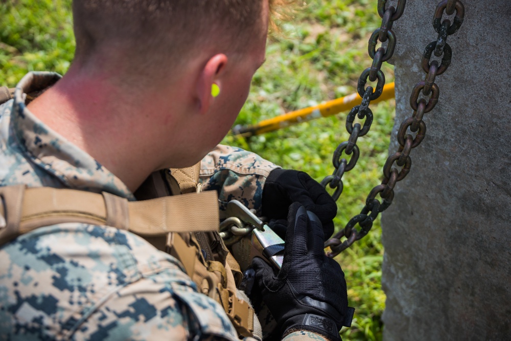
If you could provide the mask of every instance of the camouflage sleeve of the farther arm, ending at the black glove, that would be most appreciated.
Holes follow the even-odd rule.
[[[281,167],[255,153],[218,145],[202,159],[199,180],[203,190],[218,192],[221,211],[236,199],[260,215],[264,182],[275,168]]]

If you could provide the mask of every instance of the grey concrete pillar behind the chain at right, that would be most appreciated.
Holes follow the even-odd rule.
[[[394,24],[392,152],[438,2],[409,0]],[[511,340],[511,1],[462,3],[426,139],[382,217],[386,341]]]

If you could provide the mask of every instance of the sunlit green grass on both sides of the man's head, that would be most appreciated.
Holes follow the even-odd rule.
[[[284,112],[351,94],[363,69],[370,66],[367,40],[380,25],[375,0],[309,0],[295,18],[270,38],[267,61],[255,75],[237,124],[254,124]],[[0,2],[0,84],[14,86],[32,70],[65,73],[74,52],[71,0]],[[387,82],[392,67],[384,65]],[[360,160],[344,176],[336,228],[341,229],[363,206],[381,179],[393,124],[393,101],[373,106],[371,131],[359,139]],[[333,171],[332,153],[349,137],[346,113],[243,140],[224,143],[259,153],[268,160],[308,172],[318,181]],[[380,340],[385,295],[381,290],[383,247],[380,223],[336,259],[357,308],[346,340]]]

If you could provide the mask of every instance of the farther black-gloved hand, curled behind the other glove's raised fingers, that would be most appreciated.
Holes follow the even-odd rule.
[[[337,205],[327,191],[309,174],[292,169],[274,169],[263,188],[263,216],[272,219],[270,228],[285,239],[286,217],[291,203],[299,202],[316,214],[322,225],[324,240],[334,233]]]

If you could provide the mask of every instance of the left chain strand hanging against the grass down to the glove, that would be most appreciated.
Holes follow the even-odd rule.
[[[392,57],[394,48],[396,48],[396,36],[391,30],[392,24],[403,15],[406,0],[399,0],[397,8],[389,6],[385,9],[386,3],[387,0],[378,0],[378,14],[382,17],[382,24],[369,38],[368,53],[373,59],[373,65],[365,69],[358,79],[357,91],[362,97],[362,103],[355,106],[346,119],[346,130],[350,133],[350,138],[337,146],[332,160],[335,170],[332,175],[328,175],[321,181],[324,188],[328,185],[335,189],[332,197],[336,201],[343,190],[342,176],[355,167],[360,156],[357,139],[367,134],[371,124],[373,124],[373,111],[369,109],[369,104],[380,97],[383,85],[385,85],[385,75],[381,71],[382,63]],[[387,48],[380,47],[376,49],[378,41],[382,43],[388,41]],[[365,87],[367,80],[371,82],[378,80],[376,89],[372,86]],[[365,119],[363,126],[360,123],[354,124],[355,116],[358,116],[360,120]],[[350,156],[349,161],[347,161],[347,156],[343,156],[343,153]]]

